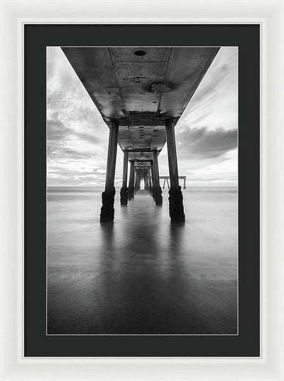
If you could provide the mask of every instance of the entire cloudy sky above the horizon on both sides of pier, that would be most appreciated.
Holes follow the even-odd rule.
[[[178,172],[187,186],[237,185],[237,48],[222,47],[175,126]],[[104,187],[109,128],[60,47],[48,47],[48,186]],[[158,156],[168,176],[166,144]],[[115,186],[123,153],[117,150]]]

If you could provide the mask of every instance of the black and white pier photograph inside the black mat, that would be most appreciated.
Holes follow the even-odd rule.
[[[238,335],[238,47],[46,56],[46,334]]]

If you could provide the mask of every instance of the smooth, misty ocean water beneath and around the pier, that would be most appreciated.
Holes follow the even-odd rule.
[[[237,189],[182,190],[185,225],[140,191],[48,188],[48,334],[236,334]]]

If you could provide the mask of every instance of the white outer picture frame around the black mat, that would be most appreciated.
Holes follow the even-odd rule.
[[[284,3],[274,0],[1,1],[1,380],[284,380]],[[261,356],[23,357],[23,25],[261,25]]]

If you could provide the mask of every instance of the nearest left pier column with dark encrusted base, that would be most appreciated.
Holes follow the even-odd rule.
[[[101,222],[114,220],[114,174],[116,167],[117,138],[119,136],[119,122],[112,120],[109,126],[109,150],[107,153],[106,185],[102,193]]]

